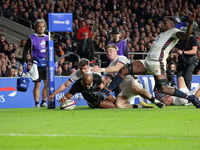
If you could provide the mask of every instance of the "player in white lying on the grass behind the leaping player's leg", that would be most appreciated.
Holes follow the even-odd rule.
[[[183,77],[178,78],[177,85],[178,85],[178,89],[180,91],[185,92],[188,95],[195,95],[197,98],[200,98],[200,86],[198,86],[197,88],[195,88],[192,91],[189,91],[185,84],[185,80]],[[159,90],[157,90],[157,89],[155,89],[154,93],[155,93],[155,97],[158,100],[160,100],[161,102],[165,103],[168,106],[170,106],[170,105],[175,105],[175,106],[192,105],[192,103],[190,103],[187,99],[179,98],[179,97],[171,96],[171,95],[166,95],[166,94],[159,92]]]

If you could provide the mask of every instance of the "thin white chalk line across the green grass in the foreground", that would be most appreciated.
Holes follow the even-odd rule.
[[[111,138],[142,138],[142,139],[178,139],[178,140],[200,140],[198,137],[164,137],[164,136],[123,136],[123,135],[67,135],[67,134],[15,134],[0,133],[2,136],[46,136],[46,137],[111,137]]]

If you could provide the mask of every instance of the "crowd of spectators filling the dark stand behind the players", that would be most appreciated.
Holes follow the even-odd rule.
[[[37,19],[48,22],[48,13],[73,13],[73,32],[61,32],[61,36],[53,36],[56,61],[69,52],[87,57],[81,52],[84,40],[88,39],[91,52],[88,59],[96,60],[95,52],[105,51],[105,46],[113,39],[114,28],[121,31],[121,40],[126,40],[129,52],[133,52],[129,53],[129,60],[144,59],[155,37],[161,32],[163,17],[173,16],[177,22],[187,22],[193,9],[196,12],[194,25],[200,28],[200,4],[193,0],[2,0],[0,6],[2,10],[12,14],[3,12],[4,17],[26,27],[30,27],[30,23]],[[20,76],[26,40],[22,40],[18,45],[6,41],[3,34],[0,38],[0,76]],[[200,45],[198,49],[200,50]],[[194,74],[200,74],[199,50]],[[30,54],[27,57],[30,57]],[[103,55],[101,59],[107,61]],[[168,61],[170,70],[176,70],[177,59],[178,55],[172,50]],[[60,59],[55,74],[70,75],[77,69],[77,61],[74,55]],[[30,65],[31,63],[27,62]]]

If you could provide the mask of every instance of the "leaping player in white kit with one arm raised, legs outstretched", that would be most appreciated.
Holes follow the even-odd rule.
[[[193,10],[193,12],[195,12]],[[162,32],[155,38],[151,49],[145,60],[135,60],[131,64],[121,68],[119,73],[112,80],[110,85],[95,93],[94,96],[106,100],[109,93],[123,82],[127,75],[141,75],[150,73],[154,76],[155,86],[167,95],[173,95],[180,98],[185,98],[192,102],[196,108],[200,108],[200,101],[195,95],[188,95],[180,90],[167,86],[166,64],[170,50],[176,45],[179,39],[188,39],[192,32],[192,24],[196,18],[195,13],[189,16],[189,24],[186,32],[174,28],[176,20],[173,17],[166,17],[162,24]]]

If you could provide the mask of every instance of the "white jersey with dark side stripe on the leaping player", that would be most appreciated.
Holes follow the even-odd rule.
[[[180,30],[172,28],[168,31],[161,32],[152,43],[146,59],[157,60],[160,62],[166,61],[170,50],[172,50],[179,41],[176,37],[178,31]]]

